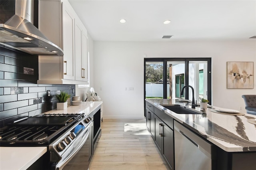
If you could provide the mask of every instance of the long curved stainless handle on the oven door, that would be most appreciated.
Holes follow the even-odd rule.
[[[56,165],[56,170],[62,170],[62,168],[64,168],[64,166],[66,164],[68,164],[68,162],[75,156],[75,154],[77,154],[77,152],[82,148],[82,146],[84,145],[84,143],[86,142],[86,140],[88,139],[88,136],[90,134],[90,126],[86,127],[86,129],[84,130],[86,132],[86,137],[85,140],[83,140],[83,142],[81,142],[78,147],[76,147],[73,152],[70,153],[70,155],[65,158],[65,160],[63,160],[62,162],[58,163]],[[84,136],[83,134],[81,134],[82,136]]]

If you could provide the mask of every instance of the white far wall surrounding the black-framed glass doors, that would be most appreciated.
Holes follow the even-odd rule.
[[[226,89],[227,61],[253,61],[256,75],[255,40],[94,42],[94,90],[103,100],[104,118],[144,117],[144,57],[212,57],[212,105],[218,107],[244,109],[241,95],[256,94],[255,81],[254,89]]]

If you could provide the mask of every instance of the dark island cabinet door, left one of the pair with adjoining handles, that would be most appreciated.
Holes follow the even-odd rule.
[[[155,125],[155,143],[158,147],[160,153],[162,153],[162,121],[156,115],[154,116],[154,125]]]

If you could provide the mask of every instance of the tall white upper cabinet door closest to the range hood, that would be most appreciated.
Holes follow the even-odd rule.
[[[75,14],[72,8],[62,3],[62,28],[63,28],[63,72],[64,79],[75,79],[75,51],[74,51],[74,25]]]

